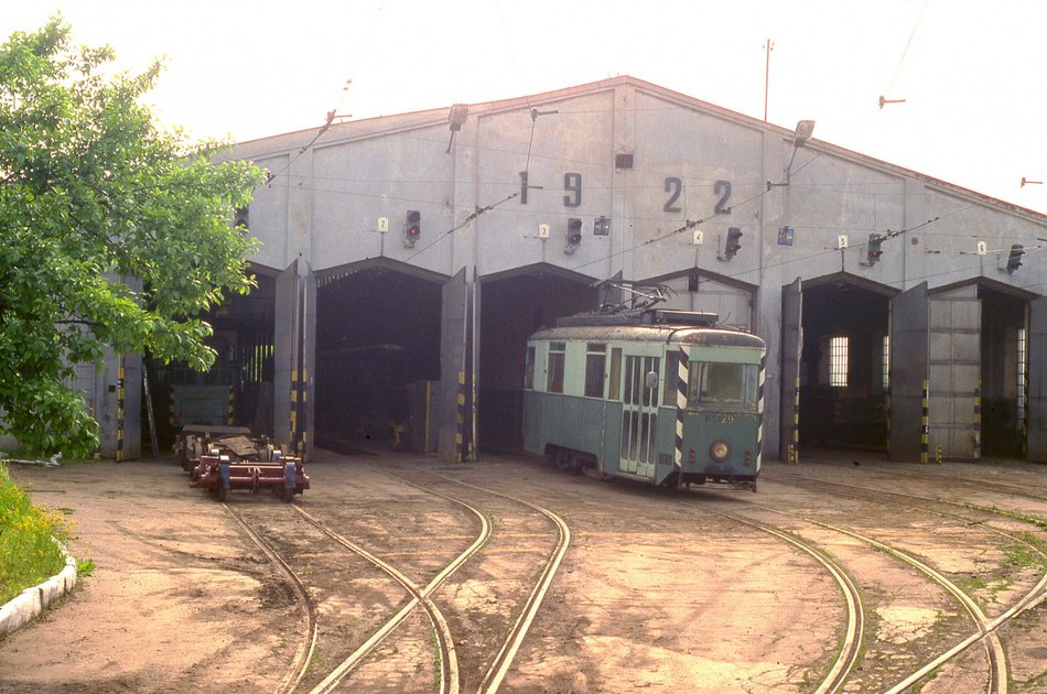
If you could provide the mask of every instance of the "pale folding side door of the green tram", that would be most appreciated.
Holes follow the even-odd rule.
[[[622,462],[619,469],[641,477],[655,476],[658,457],[658,378],[661,359],[625,357],[622,398]],[[648,373],[655,373],[649,378]]]

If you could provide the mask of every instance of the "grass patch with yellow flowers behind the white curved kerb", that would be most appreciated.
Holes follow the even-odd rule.
[[[71,529],[58,512],[34,507],[0,463],[0,604],[62,571],[65,556],[55,540],[68,542]]]

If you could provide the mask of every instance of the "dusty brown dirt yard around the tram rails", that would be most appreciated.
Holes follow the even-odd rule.
[[[455,637],[463,691],[483,677],[555,533],[519,505],[424,470],[517,495],[571,528],[568,555],[501,691],[813,691],[839,650],[844,600],[812,556],[740,519],[773,524],[817,543],[860,584],[865,653],[846,691],[875,692],[974,627],[926,576],[812,524],[812,517],[925,557],[989,616],[1033,589],[1041,565],[1014,564],[1011,540],[971,522],[799,482],[948,494],[1006,510],[1001,525],[1043,542],[1043,528],[1028,519],[1047,519],[1047,468],[857,463],[827,455],[799,466],[765,464],[756,495],[719,487],[669,494],[524,457],[446,466],[321,452],[307,466],[313,488],[295,503],[421,585],[475,538],[478,524],[425,488],[483,509],[495,527],[490,542],[434,595]],[[11,474],[36,505],[75,522],[72,552],[97,568],[56,608],[0,641],[0,692],[281,688],[304,629],[301,605],[231,516],[188,488],[173,459]],[[398,482],[398,475],[423,489]],[[957,481],[968,478],[1016,480],[1016,489],[1032,491]],[[274,497],[235,494],[229,505],[290,560],[317,605],[320,649],[300,687],[307,691],[402,596],[366,562],[303,530]],[[1014,691],[1047,692],[1045,610],[1041,604],[1001,630]],[[433,691],[429,638],[427,625],[412,618],[344,688]],[[981,691],[985,670],[982,651],[971,649],[922,691]]]

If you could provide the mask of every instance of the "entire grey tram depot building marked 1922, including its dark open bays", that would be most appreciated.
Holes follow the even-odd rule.
[[[811,126],[625,76],[240,143],[270,175],[239,219],[258,289],[209,316],[211,375],[125,356],[155,405],[127,455],[188,423],[180,382],[306,455],[518,449],[527,337],[661,285],[766,341],[765,460],[1047,460],[1047,218]],[[115,381],[82,383],[104,453]]]

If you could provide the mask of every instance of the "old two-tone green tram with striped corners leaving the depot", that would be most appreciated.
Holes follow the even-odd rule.
[[[715,322],[648,308],[531,335],[525,449],[601,479],[756,491],[767,347]]]

